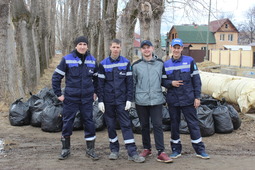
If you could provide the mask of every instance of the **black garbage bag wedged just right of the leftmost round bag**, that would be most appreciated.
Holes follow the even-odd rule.
[[[31,112],[31,122],[30,124],[35,127],[41,127],[41,114],[43,110],[46,108],[47,104],[44,102],[43,99],[39,99],[34,103],[33,107],[29,107]]]

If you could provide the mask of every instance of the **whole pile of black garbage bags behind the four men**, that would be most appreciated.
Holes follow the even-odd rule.
[[[41,127],[45,132],[59,132],[62,129],[62,102],[55,96],[52,89],[44,88],[23,102],[22,98],[17,99],[10,106],[9,120],[13,126],[31,125]],[[241,126],[241,119],[236,109],[225,102],[204,95],[201,99],[201,106],[197,108],[197,115],[201,135],[211,136],[214,133],[231,133]],[[135,104],[129,110],[132,130],[141,134],[141,124],[135,109]],[[162,128],[164,131],[171,130],[171,117],[167,105],[163,105]],[[93,120],[97,131],[106,128],[103,113],[98,109],[98,102],[93,103]],[[153,125],[150,125],[151,131]],[[82,130],[83,124],[78,111],[75,116],[73,130]],[[116,129],[120,129],[119,122],[116,122]],[[189,134],[187,122],[181,114],[180,133]]]

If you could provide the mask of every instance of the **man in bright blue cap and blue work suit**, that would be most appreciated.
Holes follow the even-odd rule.
[[[202,142],[196,108],[200,105],[201,80],[194,59],[181,54],[183,42],[172,40],[172,58],[164,63],[163,86],[167,88],[167,104],[171,117],[171,158],[181,156],[180,115],[183,113],[190,131],[191,143],[196,156],[209,159]]]

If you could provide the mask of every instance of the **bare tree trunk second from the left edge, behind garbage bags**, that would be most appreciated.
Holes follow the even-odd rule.
[[[38,83],[36,55],[33,41],[31,13],[22,0],[12,3],[12,21],[15,28],[16,52],[22,71],[22,85],[25,92],[33,91]]]

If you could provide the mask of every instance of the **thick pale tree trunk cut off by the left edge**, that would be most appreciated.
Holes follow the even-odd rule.
[[[0,1],[0,100],[10,102],[24,95],[22,72],[16,54],[15,29],[11,22],[10,0]]]

